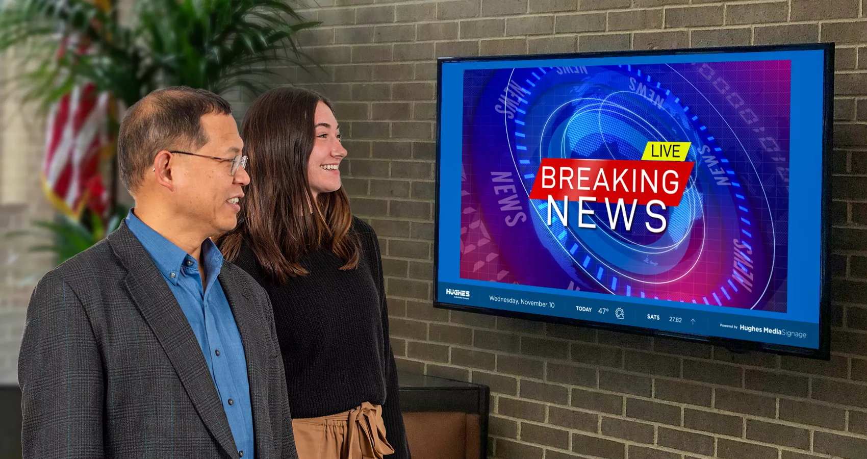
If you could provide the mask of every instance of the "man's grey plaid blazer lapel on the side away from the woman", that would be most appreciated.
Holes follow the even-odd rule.
[[[133,304],[166,351],[202,423],[231,457],[237,457],[238,449],[211,371],[172,290],[126,222],[109,234],[108,243],[127,268],[124,284]]]

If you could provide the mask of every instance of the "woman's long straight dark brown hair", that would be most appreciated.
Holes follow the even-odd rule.
[[[306,275],[299,261],[320,246],[344,261],[340,269],[358,266],[359,244],[349,232],[352,213],[343,188],[319,193],[312,209],[309,204],[314,198],[307,163],[319,102],[331,108],[327,99],[308,89],[271,89],[251,104],[241,122],[251,181],[240,202],[238,226],[225,233],[218,246],[225,259],[234,261],[246,240],[264,274],[277,284]]]

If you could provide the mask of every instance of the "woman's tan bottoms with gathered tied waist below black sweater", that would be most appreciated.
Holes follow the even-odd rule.
[[[382,459],[394,453],[382,407],[364,402],[349,411],[292,419],[298,459]]]

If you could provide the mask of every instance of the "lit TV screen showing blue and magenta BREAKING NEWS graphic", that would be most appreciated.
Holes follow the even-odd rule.
[[[442,120],[458,106],[447,103],[448,82],[460,82],[461,89],[459,151],[447,142],[440,146],[440,186],[460,170],[460,209],[442,199],[439,209],[440,215],[460,213],[460,244],[439,241],[440,250],[457,259],[457,276],[440,268],[456,283],[449,288],[466,291],[465,302],[473,293],[466,285],[498,283],[815,325],[818,284],[807,286],[813,304],[790,311],[789,283],[792,251],[818,254],[821,85],[809,100],[818,101],[810,139],[815,149],[798,153],[799,167],[814,175],[799,184],[810,188],[817,205],[805,220],[815,226],[813,249],[790,244],[792,113],[804,109],[792,107],[802,103],[792,93],[792,59],[691,57],[609,65],[477,63],[444,80]],[[449,126],[458,128],[441,122],[442,138]],[[459,153],[460,168],[447,170],[446,157]],[[440,233],[446,233],[442,226]],[[818,270],[818,256],[813,261],[811,269]],[[460,286],[464,281],[488,284]],[[818,276],[810,282],[818,283]],[[521,304],[517,297],[498,302]],[[548,310],[562,303],[552,299],[545,311],[534,312],[563,315]],[[628,307],[619,309],[621,319],[629,318]],[[616,315],[611,318],[616,323]],[[739,323],[725,325],[740,330]],[[744,326],[753,327],[746,335],[755,334],[755,325]],[[818,345],[816,335],[813,330],[808,346]]]

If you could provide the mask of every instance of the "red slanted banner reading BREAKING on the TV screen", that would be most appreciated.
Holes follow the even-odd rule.
[[[694,162],[543,158],[530,192],[534,200],[608,198],[627,204],[660,200],[667,207],[681,203]]]

